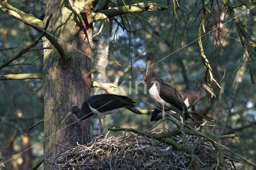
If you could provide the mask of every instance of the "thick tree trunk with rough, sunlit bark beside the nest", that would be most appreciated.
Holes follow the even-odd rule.
[[[70,57],[68,63],[64,65],[55,49],[44,50],[44,138],[46,139],[44,156],[46,157],[65,150],[63,145],[76,146],[76,142],[86,144],[90,140],[90,119],[79,120],[70,125],[77,120],[75,116],[70,116],[68,121],[60,124],[71,106],[80,107],[90,96],[91,78],[87,73],[90,71],[92,25],[86,23],[88,23],[87,18],[91,18],[92,1],[88,0],[86,4],[84,3],[84,0],[46,2],[44,22],[50,14],[53,14],[47,32],[59,39],[58,42]],[[83,7],[89,12],[80,13]],[[43,46],[50,45],[50,42],[44,38]],[[52,168],[44,162],[44,169]]]

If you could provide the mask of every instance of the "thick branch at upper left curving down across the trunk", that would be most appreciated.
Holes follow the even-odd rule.
[[[54,38],[52,35],[50,35],[48,32],[45,31],[46,29],[43,28],[43,21],[42,20],[39,20],[38,18],[34,17],[33,15],[22,12],[22,11],[18,10],[17,8],[14,8],[10,4],[2,2],[2,0],[0,0],[0,10],[9,14],[13,18],[16,18],[17,20],[20,20],[20,21],[24,22],[24,24],[26,24],[28,26],[31,26],[32,28],[34,28],[35,30],[38,30],[39,32],[45,32],[46,34],[44,36],[56,48],[56,50],[60,54],[60,58],[61,58],[63,64],[64,65],[67,64],[68,56],[66,56],[66,53],[65,53],[64,49],[57,42],[56,38]],[[51,18],[51,16],[49,16],[49,18],[47,19],[46,25],[48,25],[47,22],[50,21],[50,18]]]

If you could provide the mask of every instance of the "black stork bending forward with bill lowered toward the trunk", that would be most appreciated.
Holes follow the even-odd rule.
[[[76,117],[81,120],[96,115],[99,119],[99,136],[101,136],[103,125],[100,118],[105,114],[114,114],[118,112],[118,108],[135,107],[134,103],[135,102],[127,96],[97,94],[86,98],[80,109],[77,106],[72,106],[61,123],[63,123],[72,114],[75,114]]]

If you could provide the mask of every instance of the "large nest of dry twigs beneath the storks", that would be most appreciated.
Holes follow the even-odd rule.
[[[182,136],[172,137],[182,143]],[[188,136],[190,142],[202,140],[198,136]],[[204,142],[195,151],[199,169],[210,167],[215,162],[215,149],[210,142]],[[60,170],[181,170],[190,167],[191,157],[183,151],[172,149],[170,145],[141,135],[122,137],[111,136],[102,140],[80,145],[45,161],[52,169]],[[228,169],[235,169],[230,160],[226,160]],[[190,168],[189,168],[190,169]],[[215,169],[215,168],[214,168]],[[219,168],[218,168],[219,169]]]

